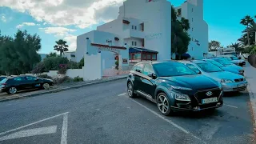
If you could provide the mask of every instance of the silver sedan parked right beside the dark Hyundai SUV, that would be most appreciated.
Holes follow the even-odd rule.
[[[210,62],[205,62],[202,60],[186,61],[184,63],[198,74],[206,75],[218,82],[221,82],[222,90],[224,92],[246,90],[246,78],[240,74],[224,71]]]

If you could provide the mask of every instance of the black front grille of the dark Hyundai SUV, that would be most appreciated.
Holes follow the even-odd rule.
[[[210,96],[206,95],[206,93],[209,91],[212,92],[212,95],[210,95]],[[221,93],[222,93],[222,90],[220,90],[219,88],[198,90],[198,92],[196,94],[194,94],[194,97],[198,100],[199,104],[202,104],[202,99],[214,98],[214,97],[219,98]]]

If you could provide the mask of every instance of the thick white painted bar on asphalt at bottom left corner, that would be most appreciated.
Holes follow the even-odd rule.
[[[30,137],[34,135],[54,134],[56,133],[56,131],[57,131],[57,126],[48,126],[48,127],[40,127],[40,128],[30,129],[30,130],[22,130],[14,134],[9,134],[2,137],[0,138],[0,141],[14,139],[14,138]]]

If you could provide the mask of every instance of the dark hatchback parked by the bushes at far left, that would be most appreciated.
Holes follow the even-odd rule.
[[[16,94],[18,90],[49,89],[53,83],[51,79],[22,75],[3,79],[0,82],[0,90],[8,94]]]

